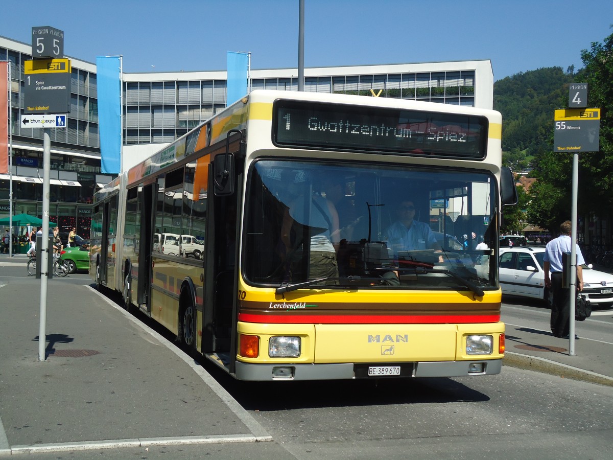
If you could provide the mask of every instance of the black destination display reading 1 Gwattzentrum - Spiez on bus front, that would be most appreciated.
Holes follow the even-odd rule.
[[[482,159],[487,118],[307,101],[275,102],[276,145]]]

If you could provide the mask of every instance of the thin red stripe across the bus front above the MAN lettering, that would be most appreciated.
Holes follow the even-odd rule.
[[[245,323],[289,324],[469,324],[498,323],[500,315],[254,315],[238,313]]]

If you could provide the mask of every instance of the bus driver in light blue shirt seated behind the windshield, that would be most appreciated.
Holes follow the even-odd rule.
[[[387,242],[395,255],[400,251],[417,251],[432,249],[441,252],[441,245],[436,241],[432,229],[427,223],[414,220],[413,201],[405,200],[396,210],[398,220],[387,228]],[[442,256],[440,258],[442,262]]]

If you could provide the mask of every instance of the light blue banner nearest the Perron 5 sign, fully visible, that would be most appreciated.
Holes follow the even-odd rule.
[[[102,172],[121,172],[121,61],[119,56],[97,56],[98,129]]]

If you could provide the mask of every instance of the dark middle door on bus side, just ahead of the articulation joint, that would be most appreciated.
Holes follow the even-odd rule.
[[[151,288],[151,250],[154,244],[153,213],[158,183],[144,185],[139,190],[139,281],[137,283],[137,304],[147,305],[147,311],[151,312],[150,288]],[[158,241],[159,244],[159,241]]]

